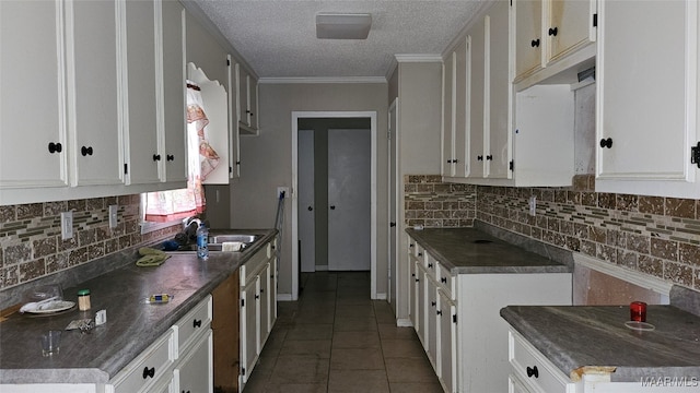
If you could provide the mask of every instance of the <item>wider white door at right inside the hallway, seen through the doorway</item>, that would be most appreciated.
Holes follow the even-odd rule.
[[[328,270],[371,270],[371,131],[328,130]]]

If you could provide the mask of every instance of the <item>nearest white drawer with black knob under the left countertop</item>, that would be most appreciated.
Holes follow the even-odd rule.
[[[172,379],[175,334],[168,330],[112,380],[115,393],[147,392],[155,382]]]

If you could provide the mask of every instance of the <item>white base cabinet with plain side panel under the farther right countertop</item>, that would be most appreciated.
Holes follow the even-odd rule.
[[[410,236],[404,258],[409,319],[445,392],[508,391],[502,307],[571,305],[570,273],[454,273]]]

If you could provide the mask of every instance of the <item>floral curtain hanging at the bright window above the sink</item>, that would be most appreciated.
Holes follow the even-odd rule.
[[[208,123],[200,90],[187,81],[187,188],[149,192],[145,198],[145,221],[165,223],[196,216],[205,211],[202,181],[220,160],[207,139]]]

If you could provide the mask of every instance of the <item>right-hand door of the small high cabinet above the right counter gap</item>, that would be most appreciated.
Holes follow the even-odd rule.
[[[557,61],[576,49],[588,45],[595,35],[593,28],[593,1],[550,0],[545,20],[547,33],[547,62]]]

